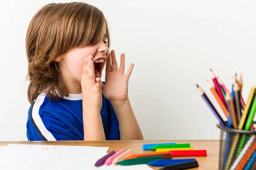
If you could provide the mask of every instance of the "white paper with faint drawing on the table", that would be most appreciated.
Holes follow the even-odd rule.
[[[0,147],[0,170],[151,170],[146,164],[95,167],[108,148],[9,144]]]

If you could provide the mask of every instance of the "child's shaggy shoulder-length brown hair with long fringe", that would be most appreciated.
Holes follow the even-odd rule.
[[[107,20],[95,6],[78,2],[50,3],[35,14],[26,34],[26,78],[30,81],[27,95],[31,105],[41,93],[46,93],[51,100],[68,96],[55,59],[71,48],[96,41],[104,22],[110,48]]]

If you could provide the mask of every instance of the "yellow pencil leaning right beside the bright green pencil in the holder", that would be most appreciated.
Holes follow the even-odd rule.
[[[248,115],[250,113],[250,109],[252,107],[253,98],[255,98],[255,90],[256,90],[256,81],[254,81],[254,83],[253,83],[253,86],[252,86],[251,91],[250,91],[249,98],[247,100],[247,104],[245,105],[245,108],[244,108],[244,113],[243,113],[243,115],[241,117],[241,120],[239,122],[238,129],[240,129],[240,130],[244,129],[245,123],[246,123]]]

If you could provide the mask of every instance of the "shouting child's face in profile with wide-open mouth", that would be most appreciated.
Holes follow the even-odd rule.
[[[105,34],[106,24],[104,23],[101,34],[93,45],[86,45],[83,48],[73,48],[61,57],[60,64],[64,81],[81,83],[84,59],[89,55],[93,56],[95,78],[102,77],[102,70],[109,54]]]

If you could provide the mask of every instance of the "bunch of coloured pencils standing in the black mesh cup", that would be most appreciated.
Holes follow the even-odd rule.
[[[207,80],[209,89],[223,111],[227,122],[215,109],[205,92],[197,85],[198,91],[207,103],[222,127],[230,130],[247,130],[249,134],[225,131],[227,133],[224,147],[224,159],[220,158],[220,170],[255,170],[256,169],[256,133],[253,117],[256,112],[256,81],[253,83],[247,103],[241,96],[242,76],[233,77],[232,90],[226,88],[219,77],[210,69],[214,86]]]

